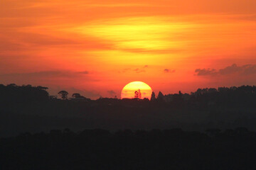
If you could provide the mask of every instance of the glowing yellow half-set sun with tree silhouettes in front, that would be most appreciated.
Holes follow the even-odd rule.
[[[132,81],[122,89],[121,98],[151,98],[152,89],[142,81]]]

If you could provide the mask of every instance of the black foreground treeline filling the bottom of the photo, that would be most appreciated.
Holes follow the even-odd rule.
[[[51,130],[0,139],[0,169],[256,169],[256,133],[246,128]]]

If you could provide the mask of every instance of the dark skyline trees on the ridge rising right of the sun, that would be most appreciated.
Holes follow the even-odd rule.
[[[255,107],[256,86],[206,88],[198,89],[196,92],[191,92],[191,94],[182,94],[179,91],[178,94],[167,94],[165,96],[159,92],[156,101],[172,103],[174,106]]]

